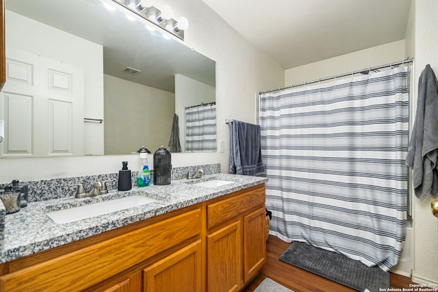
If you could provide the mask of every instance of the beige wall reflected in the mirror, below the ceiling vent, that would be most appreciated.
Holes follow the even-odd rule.
[[[105,155],[167,148],[175,94],[110,75],[104,80]]]

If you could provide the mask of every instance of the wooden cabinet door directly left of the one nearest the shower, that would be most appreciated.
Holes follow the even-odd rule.
[[[207,235],[207,291],[237,291],[242,286],[240,220]]]

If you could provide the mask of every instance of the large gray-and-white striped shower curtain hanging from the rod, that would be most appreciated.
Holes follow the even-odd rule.
[[[388,271],[407,225],[407,68],[261,94],[270,233]]]

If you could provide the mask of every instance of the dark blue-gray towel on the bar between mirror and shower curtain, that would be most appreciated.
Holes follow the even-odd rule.
[[[234,120],[230,131],[231,174],[257,176],[265,171],[261,161],[260,126]]]

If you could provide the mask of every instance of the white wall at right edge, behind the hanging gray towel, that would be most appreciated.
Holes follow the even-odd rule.
[[[438,1],[417,0],[415,3],[415,80],[426,64],[438,75]],[[412,39],[412,38],[411,38]],[[415,100],[416,103],[416,100]],[[413,117],[414,118],[414,117]],[[413,280],[438,283],[438,219],[430,212],[431,196],[414,199],[414,269]]]

